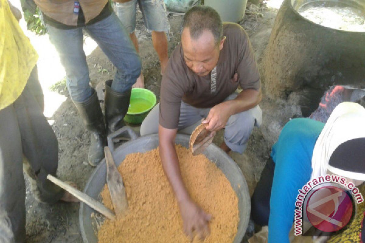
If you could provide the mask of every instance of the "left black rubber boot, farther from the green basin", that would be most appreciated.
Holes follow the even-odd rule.
[[[103,112],[95,90],[87,101],[74,101],[74,104],[90,132],[89,164],[96,166],[104,158],[106,137]]]

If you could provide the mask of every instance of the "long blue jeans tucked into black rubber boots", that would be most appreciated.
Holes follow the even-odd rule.
[[[76,102],[86,101],[92,94],[89,68],[83,49],[82,29],[99,45],[117,68],[111,88],[123,93],[132,88],[141,73],[141,59],[129,34],[115,13],[85,27],[70,30],[58,29],[46,24],[52,44],[56,47],[66,71],[67,87]]]

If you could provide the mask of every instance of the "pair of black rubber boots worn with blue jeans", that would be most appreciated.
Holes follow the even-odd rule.
[[[118,93],[111,89],[112,80],[105,82],[104,114],[99,104],[96,91],[84,102],[74,104],[80,113],[87,130],[90,132],[89,164],[96,166],[104,158],[107,134],[124,126],[123,118],[127,114],[131,89]]]

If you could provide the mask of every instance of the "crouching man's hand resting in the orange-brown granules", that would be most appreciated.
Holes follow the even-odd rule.
[[[184,222],[184,232],[191,240],[197,235],[204,240],[209,234],[209,221],[212,216],[207,214],[191,200],[179,203],[181,216]]]

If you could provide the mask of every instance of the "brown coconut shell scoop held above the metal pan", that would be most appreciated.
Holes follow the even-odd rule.
[[[190,136],[189,148],[193,155],[202,153],[213,141],[215,132],[205,129],[207,126],[207,123],[200,124]]]

